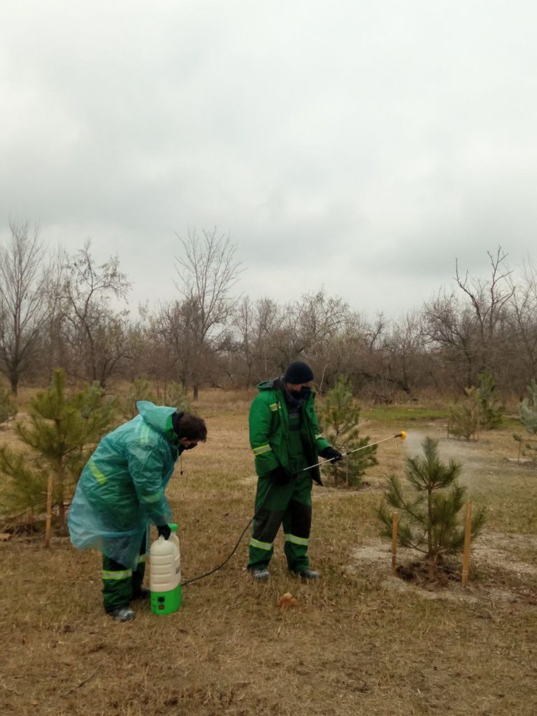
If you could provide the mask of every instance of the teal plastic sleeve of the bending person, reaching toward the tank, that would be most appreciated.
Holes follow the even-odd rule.
[[[138,501],[147,519],[155,525],[165,525],[172,521],[172,513],[164,495],[164,467],[164,458],[158,445],[131,445],[129,473]]]

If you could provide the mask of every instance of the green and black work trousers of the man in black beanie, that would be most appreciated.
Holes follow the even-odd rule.
[[[253,518],[248,569],[266,569],[274,553],[274,539],[283,523],[287,566],[293,572],[309,569],[311,477],[299,473],[286,485],[259,478],[256,516]]]

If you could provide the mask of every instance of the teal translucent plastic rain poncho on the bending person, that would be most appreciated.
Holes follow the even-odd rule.
[[[69,534],[127,568],[135,566],[148,523],[172,521],[164,491],[184,446],[173,432],[173,407],[140,400],[140,415],[102,438],[69,508]]]

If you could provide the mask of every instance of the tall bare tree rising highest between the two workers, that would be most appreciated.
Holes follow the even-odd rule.
[[[187,314],[188,329],[185,340],[190,356],[188,383],[193,388],[193,398],[198,392],[208,361],[215,357],[224,342],[228,340],[231,325],[238,304],[238,298],[231,296],[243,269],[236,261],[236,246],[229,235],[216,235],[213,231],[188,230],[188,236],[178,239],[183,255],[176,259],[178,274],[177,287],[183,294],[183,311]]]

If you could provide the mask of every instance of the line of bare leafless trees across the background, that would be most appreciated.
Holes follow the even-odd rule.
[[[243,266],[226,234],[177,235],[177,298],[132,310],[120,258],[98,263],[89,241],[74,254],[45,246],[39,227],[11,221],[0,246],[0,372],[22,382],[71,379],[108,387],[145,376],[181,384],[250,387],[300,357],[322,393],[347,375],[377,402],[424,389],[453,395],[493,374],[498,389],[523,395],[537,375],[537,273],[528,259],[508,267],[488,252],[486,276],[455,263],[453,286],[399,319],[372,318],[319,288],[296,301],[236,293]]]

